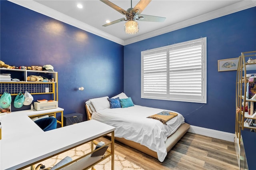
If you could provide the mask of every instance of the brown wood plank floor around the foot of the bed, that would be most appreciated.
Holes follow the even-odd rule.
[[[238,170],[234,142],[187,132],[164,162],[118,141],[115,152],[145,170]]]

